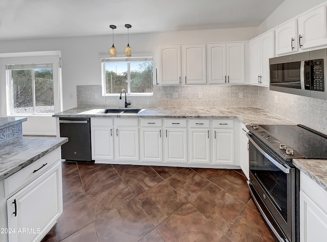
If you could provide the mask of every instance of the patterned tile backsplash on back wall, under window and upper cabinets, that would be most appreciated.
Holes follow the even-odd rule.
[[[199,98],[199,93],[202,93],[202,98]],[[173,94],[178,94],[178,98],[173,98]],[[153,96],[127,96],[127,100],[131,101],[131,107],[258,106],[258,94],[258,87],[250,85],[153,86]],[[118,96],[102,96],[100,85],[77,86],[77,105],[124,106],[124,100]]]

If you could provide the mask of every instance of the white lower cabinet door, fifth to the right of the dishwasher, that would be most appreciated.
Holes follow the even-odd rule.
[[[209,130],[190,129],[190,162],[210,163]]]

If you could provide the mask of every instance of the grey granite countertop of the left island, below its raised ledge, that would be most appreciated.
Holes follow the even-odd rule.
[[[55,150],[67,138],[16,137],[0,143],[0,180]]]

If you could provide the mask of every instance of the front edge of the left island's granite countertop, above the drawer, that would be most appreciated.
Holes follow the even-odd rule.
[[[59,139],[61,139],[61,140],[58,141],[58,143],[56,143],[55,145],[50,146],[48,149],[46,149],[46,150],[40,152],[39,154],[27,159],[26,162],[20,163],[19,165],[15,166],[14,168],[6,171],[6,173],[0,175],[0,180],[6,179],[7,177],[9,177],[9,176],[13,175],[14,173],[18,172],[19,170],[27,167],[28,165],[32,164],[33,162],[35,162],[36,160],[38,160],[42,156],[44,156],[46,154],[49,154],[51,151],[57,149],[58,147],[60,147],[61,145],[65,144],[68,141],[68,138],[59,138]]]

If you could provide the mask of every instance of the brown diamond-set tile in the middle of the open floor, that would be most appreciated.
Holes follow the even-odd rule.
[[[161,181],[136,199],[155,226],[184,204],[168,180]]]

